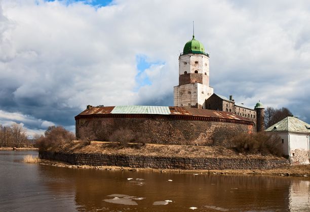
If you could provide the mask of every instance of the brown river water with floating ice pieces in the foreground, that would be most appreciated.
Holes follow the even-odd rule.
[[[0,211],[310,211],[308,178],[70,169],[27,154],[0,151]]]

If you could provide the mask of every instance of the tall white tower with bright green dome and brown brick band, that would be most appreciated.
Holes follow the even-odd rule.
[[[189,40],[179,57],[179,85],[174,87],[174,106],[206,108],[213,94],[209,86],[209,55],[200,41]]]

